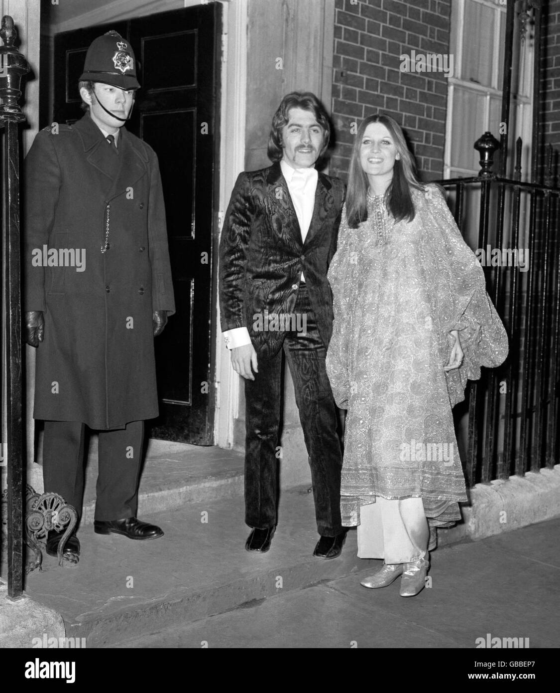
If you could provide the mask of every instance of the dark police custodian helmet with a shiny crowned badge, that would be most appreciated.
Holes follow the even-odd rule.
[[[87,49],[82,80],[103,82],[119,89],[138,89],[132,46],[113,30],[96,38]]]

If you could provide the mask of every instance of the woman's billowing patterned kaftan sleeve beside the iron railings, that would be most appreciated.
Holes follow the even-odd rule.
[[[441,339],[457,330],[464,351],[462,365],[446,371],[451,406],[464,399],[467,380],[480,378],[480,367],[501,365],[508,353],[505,328],[486,291],[485,275],[476,255],[464,242],[435,185],[418,193],[422,223],[422,262],[431,271],[431,301]],[[453,342],[452,338],[450,344]]]

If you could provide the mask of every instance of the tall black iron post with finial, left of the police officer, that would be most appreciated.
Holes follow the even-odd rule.
[[[19,144],[18,123],[25,120],[17,101],[21,77],[29,65],[14,46],[12,17],[2,17],[0,30],[0,124],[4,128],[3,232],[6,317],[6,432],[8,446],[8,597],[19,599],[23,576],[23,442],[21,426],[21,309],[19,272]]]

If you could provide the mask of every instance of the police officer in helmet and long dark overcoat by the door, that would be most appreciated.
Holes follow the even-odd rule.
[[[158,415],[153,340],[174,297],[158,160],[124,127],[140,85],[118,33],[93,41],[79,87],[86,114],[39,132],[25,166],[25,328],[38,347],[44,489],[80,515],[85,426],[98,430],[95,532],[152,539],[163,532],[136,518],[138,480],[144,420]],[[48,534],[48,554],[62,534]],[[64,557],[79,555],[73,534]]]

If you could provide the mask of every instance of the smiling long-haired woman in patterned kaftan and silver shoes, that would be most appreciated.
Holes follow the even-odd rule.
[[[467,500],[451,408],[481,365],[505,360],[507,335],[480,263],[440,189],[415,177],[389,116],[365,119],[356,135],[328,279],[327,374],[347,410],[343,525],[359,525],[360,558],[384,559],[361,584],[402,575],[400,594],[412,597],[433,528],[460,519]]]

